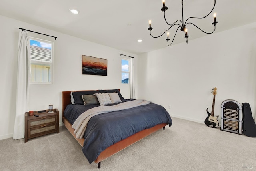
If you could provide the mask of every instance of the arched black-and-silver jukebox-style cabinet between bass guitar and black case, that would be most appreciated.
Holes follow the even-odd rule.
[[[225,100],[221,103],[221,128],[242,135],[242,107],[235,100]]]

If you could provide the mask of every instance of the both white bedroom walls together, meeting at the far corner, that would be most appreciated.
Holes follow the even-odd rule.
[[[4,16],[0,16],[0,23],[0,139],[12,137],[13,133],[19,27],[58,37],[54,40],[30,32],[33,37],[54,42],[54,84],[30,86],[30,110],[47,109],[52,103],[62,113],[61,91],[119,88],[128,98],[128,86],[120,83],[122,53],[135,57],[136,97],[163,105],[174,117],[203,123],[206,108],[212,107],[212,87],[217,87],[215,115],[220,116],[222,101],[234,99],[240,104],[248,102],[254,116],[256,23],[148,52],[138,58],[135,54]],[[108,76],[82,75],[82,54],[108,59]]]

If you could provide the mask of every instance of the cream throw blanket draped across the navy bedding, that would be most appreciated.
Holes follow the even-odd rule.
[[[82,113],[74,122],[72,125],[72,128],[75,129],[74,134],[76,135],[76,138],[82,139],[84,137],[84,132],[87,127],[87,123],[91,119],[91,117],[95,115],[99,115],[102,113],[108,113],[112,111],[119,111],[119,110],[124,110],[124,109],[130,109],[133,107],[141,106],[141,105],[147,105],[149,104],[149,101],[143,101],[143,100],[133,100],[133,101],[127,101],[120,103],[118,105],[113,105],[113,106],[99,106],[99,107],[94,107],[92,109],[89,109]]]

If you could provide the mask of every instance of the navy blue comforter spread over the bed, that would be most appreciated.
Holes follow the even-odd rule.
[[[73,124],[80,114],[96,106],[68,105],[64,116]],[[171,126],[172,119],[164,107],[154,103],[96,115],[88,122],[82,151],[92,163],[107,147],[160,123]]]

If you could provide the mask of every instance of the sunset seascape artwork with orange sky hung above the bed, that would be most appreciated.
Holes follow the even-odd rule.
[[[82,55],[82,74],[107,76],[108,60]]]

